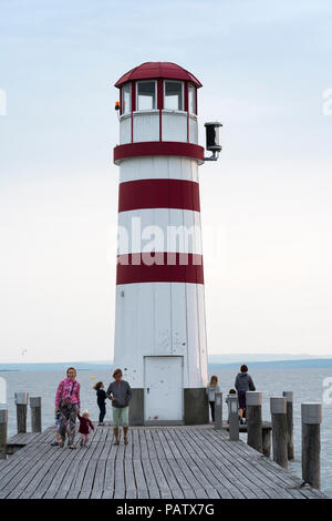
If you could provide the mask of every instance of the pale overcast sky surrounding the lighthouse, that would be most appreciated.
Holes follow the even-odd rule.
[[[115,81],[172,61],[200,166],[210,354],[332,355],[329,0],[0,0],[0,361],[113,355]]]

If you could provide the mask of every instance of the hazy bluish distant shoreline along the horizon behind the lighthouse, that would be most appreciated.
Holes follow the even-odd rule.
[[[303,358],[303,359],[291,359],[291,360],[267,360],[267,361],[255,361],[246,360],[243,357],[243,364],[247,364],[252,369],[332,369],[332,358]],[[13,371],[63,371],[69,366],[75,366],[80,371],[86,370],[112,370],[113,361],[106,360],[103,362],[91,361],[65,361],[65,362],[48,362],[48,364],[0,364],[0,372],[13,372]],[[221,369],[239,369],[239,361],[227,361],[215,362],[209,361],[209,370],[221,370]]]

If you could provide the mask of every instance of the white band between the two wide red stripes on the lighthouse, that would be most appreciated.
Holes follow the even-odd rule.
[[[177,208],[121,212],[117,254],[141,252],[203,255],[200,213]]]

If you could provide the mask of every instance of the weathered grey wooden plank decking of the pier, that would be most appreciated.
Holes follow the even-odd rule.
[[[301,480],[225,431],[201,427],[137,427],[113,445],[96,427],[87,448],[51,447],[54,428],[17,435],[22,446],[0,460],[0,499],[314,499]],[[79,437],[76,437],[79,441]]]

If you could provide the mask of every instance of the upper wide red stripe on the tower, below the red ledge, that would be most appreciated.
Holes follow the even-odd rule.
[[[199,212],[199,185],[184,180],[126,181],[118,187],[118,212],[179,208]]]

